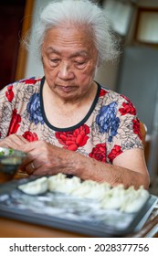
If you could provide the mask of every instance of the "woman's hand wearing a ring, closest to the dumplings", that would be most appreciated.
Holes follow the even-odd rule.
[[[20,150],[28,154],[26,161],[21,166],[21,169],[28,175],[45,176],[55,175],[59,172],[69,174],[75,165],[74,161],[70,160],[72,152],[44,141],[24,144]]]

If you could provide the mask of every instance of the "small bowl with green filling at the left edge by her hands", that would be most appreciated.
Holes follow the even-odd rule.
[[[25,158],[22,151],[0,147],[0,183],[12,179]]]

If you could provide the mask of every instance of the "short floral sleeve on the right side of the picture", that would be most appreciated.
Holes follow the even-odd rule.
[[[114,102],[115,119],[113,127],[115,129],[113,132],[110,131],[107,144],[108,162],[111,163],[117,155],[126,150],[132,148],[143,149],[140,120],[132,101],[123,95],[116,94]]]

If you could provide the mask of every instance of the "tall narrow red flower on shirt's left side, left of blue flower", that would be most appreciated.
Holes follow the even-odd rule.
[[[17,113],[15,109],[12,113],[12,120],[11,120],[7,135],[16,133],[18,130],[18,127],[20,126],[19,123],[21,123],[21,116]]]

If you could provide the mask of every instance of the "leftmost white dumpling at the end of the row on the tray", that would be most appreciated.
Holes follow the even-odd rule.
[[[18,189],[27,195],[40,195],[47,192],[48,182],[47,177],[43,176],[34,181],[27,182],[26,184],[19,185]]]

